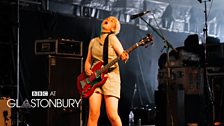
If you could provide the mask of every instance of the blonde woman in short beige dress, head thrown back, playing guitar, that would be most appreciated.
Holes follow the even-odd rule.
[[[128,53],[124,51],[116,36],[120,31],[120,22],[118,19],[113,16],[104,19],[101,24],[101,29],[101,35],[93,38],[89,43],[88,54],[85,61],[85,74],[87,76],[94,74],[92,68],[99,62],[104,62],[104,65],[106,65],[118,56],[124,62],[129,58]],[[106,44],[107,42],[108,44]],[[107,52],[108,54],[106,54]],[[87,125],[97,126],[100,116],[101,101],[104,99],[106,113],[111,125],[122,126],[121,119],[118,115],[118,101],[121,89],[118,63],[111,66],[104,76],[107,76],[105,83],[97,87],[93,94],[89,96],[89,116]]]

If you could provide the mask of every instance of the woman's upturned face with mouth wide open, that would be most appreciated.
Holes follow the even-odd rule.
[[[116,28],[116,20],[113,18],[106,18],[102,22],[102,32],[114,32]]]

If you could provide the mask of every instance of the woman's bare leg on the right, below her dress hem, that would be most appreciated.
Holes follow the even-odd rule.
[[[104,96],[106,112],[112,126],[122,126],[120,116],[118,115],[118,98]]]

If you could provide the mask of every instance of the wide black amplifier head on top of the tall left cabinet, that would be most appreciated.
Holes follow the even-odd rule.
[[[36,40],[35,54],[82,56],[82,42],[70,39]]]

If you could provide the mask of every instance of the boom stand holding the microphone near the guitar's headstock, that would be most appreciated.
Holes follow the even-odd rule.
[[[167,81],[166,81],[166,99],[167,99],[167,106],[168,108],[170,108],[170,98],[169,98],[169,84],[170,84],[170,57],[169,57],[169,50],[174,50],[175,52],[177,52],[177,50],[170,44],[170,42],[168,42],[167,39],[165,39],[165,37],[163,35],[161,35],[161,33],[159,33],[153,26],[151,26],[144,18],[140,17],[162,40],[164,43],[164,49],[166,49],[166,63],[167,63]],[[171,126],[174,125],[174,120],[173,120],[173,113],[172,110],[167,110],[170,111],[170,122],[171,122]],[[169,115],[169,114],[167,114]]]

